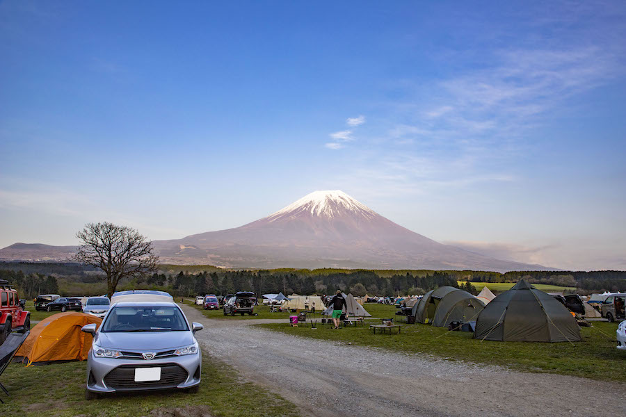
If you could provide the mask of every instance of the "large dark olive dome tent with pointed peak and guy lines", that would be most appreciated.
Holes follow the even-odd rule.
[[[580,341],[574,316],[523,279],[495,297],[478,316],[474,338],[488,341]]]

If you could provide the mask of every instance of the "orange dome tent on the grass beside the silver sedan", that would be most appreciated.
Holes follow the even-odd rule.
[[[28,358],[29,365],[47,361],[84,361],[91,349],[92,336],[81,332],[81,327],[101,322],[101,318],[85,313],[54,314],[33,327],[15,356]]]

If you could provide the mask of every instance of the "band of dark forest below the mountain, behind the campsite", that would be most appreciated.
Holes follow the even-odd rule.
[[[177,272],[175,272],[177,271]],[[337,289],[354,295],[415,295],[442,285],[457,286],[457,281],[517,282],[552,284],[577,288],[579,293],[626,291],[624,271],[432,271],[432,270],[224,270],[204,265],[166,265],[159,273],[143,279],[124,281],[118,290],[153,288],[172,295],[192,296],[235,291],[260,294],[332,294]],[[20,291],[20,297],[33,298],[41,293],[61,295],[103,295],[106,286],[95,268],[78,263],[0,263],[0,279]],[[475,288],[463,289],[475,292]]]

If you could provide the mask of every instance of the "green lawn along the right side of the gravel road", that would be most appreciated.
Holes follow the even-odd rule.
[[[366,304],[367,307],[369,304]],[[388,315],[387,315],[388,316]],[[396,316],[397,317],[397,316]],[[430,325],[406,325],[401,334],[371,334],[366,327],[334,330],[327,326],[290,327],[261,325],[276,332],[350,342],[401,352],[433,354],[449,360],[489,363],[516,370],[577,375],[606,381],[626,382],[623,372],[626,352],[616,349],[617,323],[593,322],[581,327],[583,341],[575,343],[520,343],[479,341],[469,332],[449,332]],[[603,334],[604,333],[604,334]]]

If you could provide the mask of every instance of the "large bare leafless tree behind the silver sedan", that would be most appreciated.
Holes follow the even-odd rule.
[[[88,223],[76,237],[81,246],[74,259],[104,271],[109,297],[121,279],[142,277],[158,269],[159,256],[152,253],[152,243],[130,227]]]

